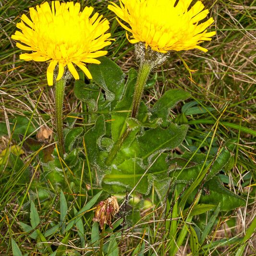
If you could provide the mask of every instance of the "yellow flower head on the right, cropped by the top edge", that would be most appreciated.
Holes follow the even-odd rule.
[[[198,46],[210,41],[216,32],[207,32],[206,28],[214,22],[213,18],[199,23],[207,17],[201,1],[190,7],[192,0],[120,0],[120,7],[111,2],[108,8],[120,19],[129,24],[121,26],[132,33],[131,43],[144,42],[152,50],[166,53],[170,50],[207,49]]]

